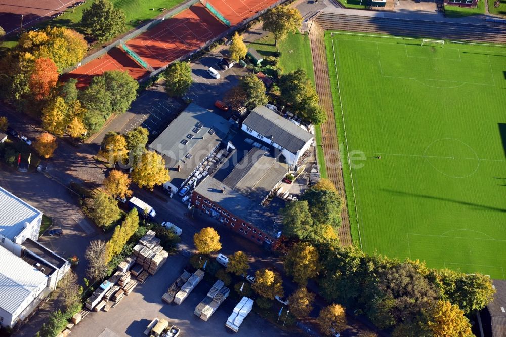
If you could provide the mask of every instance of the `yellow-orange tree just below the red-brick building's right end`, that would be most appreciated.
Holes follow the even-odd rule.
[[[316,276],[319,264],[318,250],[307,242],[293,245],[284,260],[286,274],[301,286],[306,286],[308,278]]]

